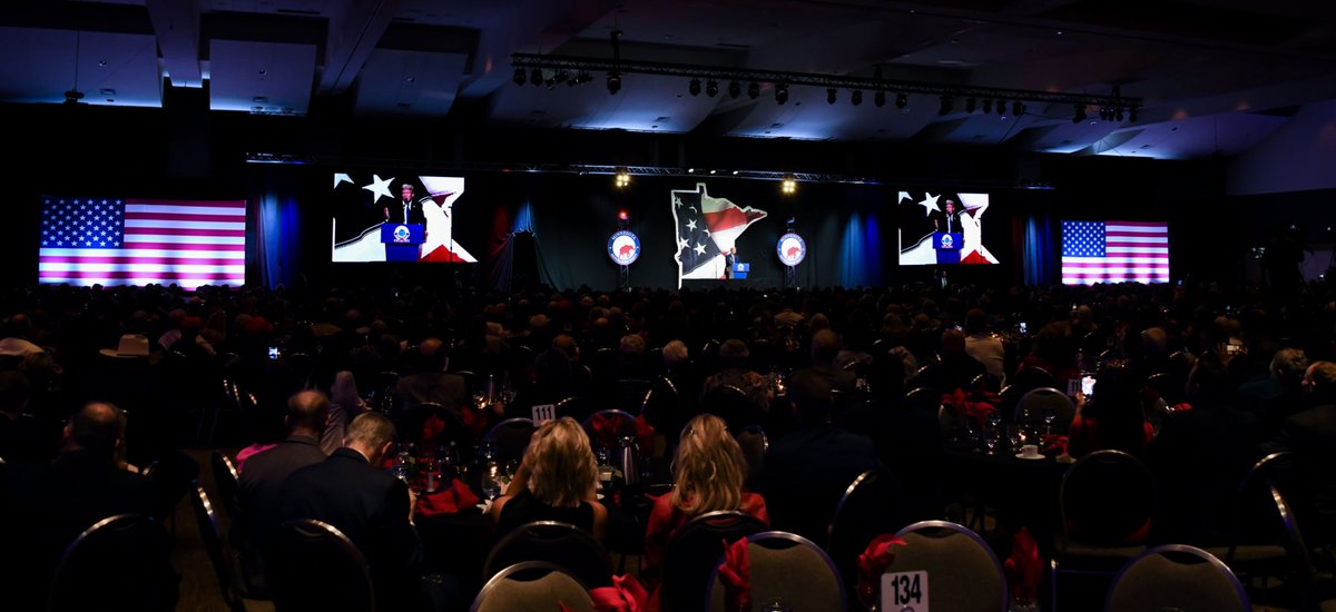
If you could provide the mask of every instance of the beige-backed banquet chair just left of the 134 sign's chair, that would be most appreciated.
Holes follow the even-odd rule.
[[[747,543],[752,601],[760,605],[779,601],[786,609],[848,609],[839,571],[816,544],[788,532],[755,533],[747,536]],[[705,603],[711,612],[728,609],[724,605],[724,585],[719,579],[719,565],[723,563],[723,555],[716,557],[709,581],[705,583]],[[802,579],[795,580],[795,576]]]

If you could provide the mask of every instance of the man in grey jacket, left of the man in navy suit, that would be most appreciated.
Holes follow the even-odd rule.
[[[246,460],[236,482],[236,513],[228,536],[242,553],[242,573],[251,595],[263,595],[265,555],[282,522],[283,484],[293,472],[325,461],[321,434],[329,421],[329,398],[299,392],[287,401],[287,438]]]

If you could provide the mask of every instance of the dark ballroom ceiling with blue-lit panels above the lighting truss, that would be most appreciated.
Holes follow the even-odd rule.
[[[621,57],[949,87],[1141,99],[1137,120],[1073,122],[1071,104],[1019,116],[904,110],[772,83],[737,98],[689,79],[604,73],[582,86],[513,82],[512,53]],[[0,15],[0,102],[170,106],[207,87],[214,111],[358,116],[470,114],[496,127],[989,146],[1196,159],[1249,150],[1307,104],[1336,99],[1336,3],[1313,0],[104,0],[16,1]],[[550,72],[544,75],[552,76]],[[894,95],[892,95],[894,99]],[[979,107],[982,107],[982,100]],[[458,118],[456,118],[458,119]],[[298,120],[298,119],[294,119]]]

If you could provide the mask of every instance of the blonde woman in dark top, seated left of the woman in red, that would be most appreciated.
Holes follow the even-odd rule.
[[[599,540],[608,509],[597,501],[599,462],[584,428],[570,417],[548,421],[533,432],[524,460],[506,493],[492,504],[497,534],[533,521],[561,521]]]

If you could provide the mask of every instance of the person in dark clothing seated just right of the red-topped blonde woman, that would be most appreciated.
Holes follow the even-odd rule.
[[[794,373],[788,397],[796,429],[771,442],[758,493],[776,529],[819,543],[844,489],[880,461],[870,438],[830,422],[831,389],[815,371]]]

